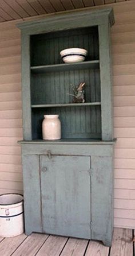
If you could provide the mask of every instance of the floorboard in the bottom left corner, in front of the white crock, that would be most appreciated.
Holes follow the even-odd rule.
[[[0,255],[10,256],[12,253],[14,253],[15,249],[21,245],[26,237],[27,236],[25,234],[21,234],[12,238],[3,239],[3,241],[0,243]]]

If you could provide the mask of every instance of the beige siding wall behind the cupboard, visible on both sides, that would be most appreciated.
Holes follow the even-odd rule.
[[[135,1],[112,5],[114,225],[135,228]],[[0,193],[22,193],[21,41],[15,22],[0,24]]]

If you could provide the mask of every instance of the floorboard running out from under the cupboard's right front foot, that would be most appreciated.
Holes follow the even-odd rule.
[[[109,247],[104,246],[101,242],[90,241],[85,256],[108,256],[108,254]]]

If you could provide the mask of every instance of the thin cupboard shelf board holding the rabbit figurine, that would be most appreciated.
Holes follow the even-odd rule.
[[[101,102],[87,102],[87,103],[67,103],[67,104],[32,104],[32,108],[38,107],[82,107],[82,106],[98,106]]]

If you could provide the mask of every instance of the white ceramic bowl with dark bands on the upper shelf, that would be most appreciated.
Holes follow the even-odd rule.
[[[65,63],[81,62],[85,60],[87,51],[82,48],[68,48],[60,52]]]

